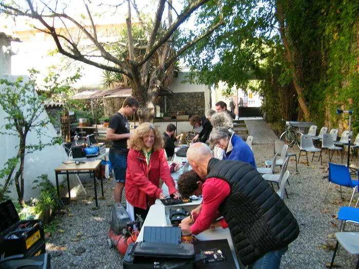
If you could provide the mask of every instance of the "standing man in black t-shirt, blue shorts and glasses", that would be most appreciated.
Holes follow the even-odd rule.
[[[130,125],[126,119],[132,116],[138,109],[138,101],[134,97],[127,97],[115,114],[112,115],[106,133],[106,139],[111,141],[109,159],[115,174],[115,202],[121,202],[122,191],[125,188],[127,169],[127,139],[131,137]]]

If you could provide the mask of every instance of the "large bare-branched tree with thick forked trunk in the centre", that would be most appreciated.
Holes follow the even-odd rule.
[[[41,23],[44,28],[35,28],[51,35],[59,53],[103,70],[127,76],[131,80],[133,95],[141,104],[140,118],[143,121],[152,121],[154,118],[154,100],[159,87],[166,79],[167,70],[187,49],[204,37],[209,36],[218,27],[224,25],[221,0],[183,1],[181,2],[181,11],[177,11],[173,7],[172,0],[158,0],[156,2],[155,14],[149,15],[152,22],[149,34],[146,34],[143,44],[134,42],[135,36],[132,30],[133,24],[131,23],[132,10],[135,10],[137,14],[138,24],[145,28],[136,2],[127,0],[119,5],[109,5],[109,9],[113,11],[117,8],[127,9],[127,42],[117,42],[119,47],[127,47],[128,49],[128,57],[125,59],[116,57],[116,53],[111,51],[110,47],[102,43],[101,38],[99,38],[96,28],[96,19],[98,17],[95,13],[99,9],[98,2],[84,1],[84,12],[81,13],[77,8],[76,17],[78,13],[81,13],[81,18],[77,19],[75,16],[69,15],[66,4],[62,5],[62,3],[55,0],[50,0],[47,3],[42,1],[1,0],[0,12],[13,16],[15,20],[18,17],[27,17]],[[217,12],[213,15],[214,23],[207,28],[201,28],[194,38],[186,44],[177,45],[174,51],[172,38],[177,29],[196,10],[207,3],[217,7]],[[164,15],[166,6],[167,16]],[[175,18],[173,18],[173,13],[175,13]],[[57,23],[62,25],[61,29],[55,27]],[[70,26],[76,28],[77,31],[70,30]],[[146,30],[144,33],[147,33]],[[81,35],[91,42],[91,52],[82,50],[81,45],[79,45],[78,36]],[[141,49],[144,53],[137,54],[135,53],[136,49]],[[151,67],[153,59],[156,59],[156,64]]]

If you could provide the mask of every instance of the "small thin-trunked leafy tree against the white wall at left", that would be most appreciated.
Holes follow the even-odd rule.
[[[24,164],[25,155],[35,151],[41,151],[47,146],[61,143],[60,137],[53,137],[48,142],[44,142],[45,129],[51,123],[50,117],[43,117],[44,102],[49,96],[63,96],[70,89],[72,84],[78,79],[78,75],[65,79],[67,85],[60,85],[57,75],[47,77],[48,91],[41,91],[36,85],[35,70],[30,70],[30,79],[25,80],[18,77],[15,81],[1,79],[0,85],[0,106],[4,110],[6,124],[1,127],[0,134],[18,137],[17,154],[6,161],[4,168],[0,171],[0,178],[4,179],[1,184],[0,200],[7,197],[8,188],[15,183],[18,201],[24,205]],[[52,83],[50,83],[52,81]],[[40,93],[40,94],[38,94]],[[58,97],[61,98],[61,97]],[[36,143],[28,143],[29,133],[36,134]]]

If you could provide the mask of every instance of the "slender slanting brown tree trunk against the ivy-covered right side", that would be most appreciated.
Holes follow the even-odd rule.
[[[292,71],[291,76],[292,76],[294,89],[295,89],[295,91],[296,91],[296,93],[298,95],[298,102],[299,102],[299,105],[301,106],[301,109],[303,111],[304,118],[305,118],[306,121],[309,121],[310,120],[310,113],[309,113],[308,105],[307,105],[307,102],[306,102],[306,100],[305,100],[305,98],[303,96],[302,87],[300,86],[300,84],[298,82],[298,78],[297,78],[296,71],[295,71],[295,66],[294,66],[294,63],[293,63],[293,60],[292,60],[292,54],[291,54],[289,44],[288,44],[288,40],[287,40],[286,33],[285,33],[283,4],[282,4],[281,1],[277,2],[276,13],[278,15],[278,21],[279,21],[279,24],[280,24],[279,31],[280,31],[280,34],[281,34],[281,38],[282,38],[282,41],[283,41],[284,48],[286,50],[286,53],[285,53],[284,57],[287,60],[288,68]]]

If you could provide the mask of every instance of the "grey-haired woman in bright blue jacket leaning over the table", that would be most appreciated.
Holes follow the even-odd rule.
[[[224,160],[245,161],[256,167],[254,154],[248,144],[232,130],[223,127],[214,128],[209,137],[210,143],[224,150]]]

